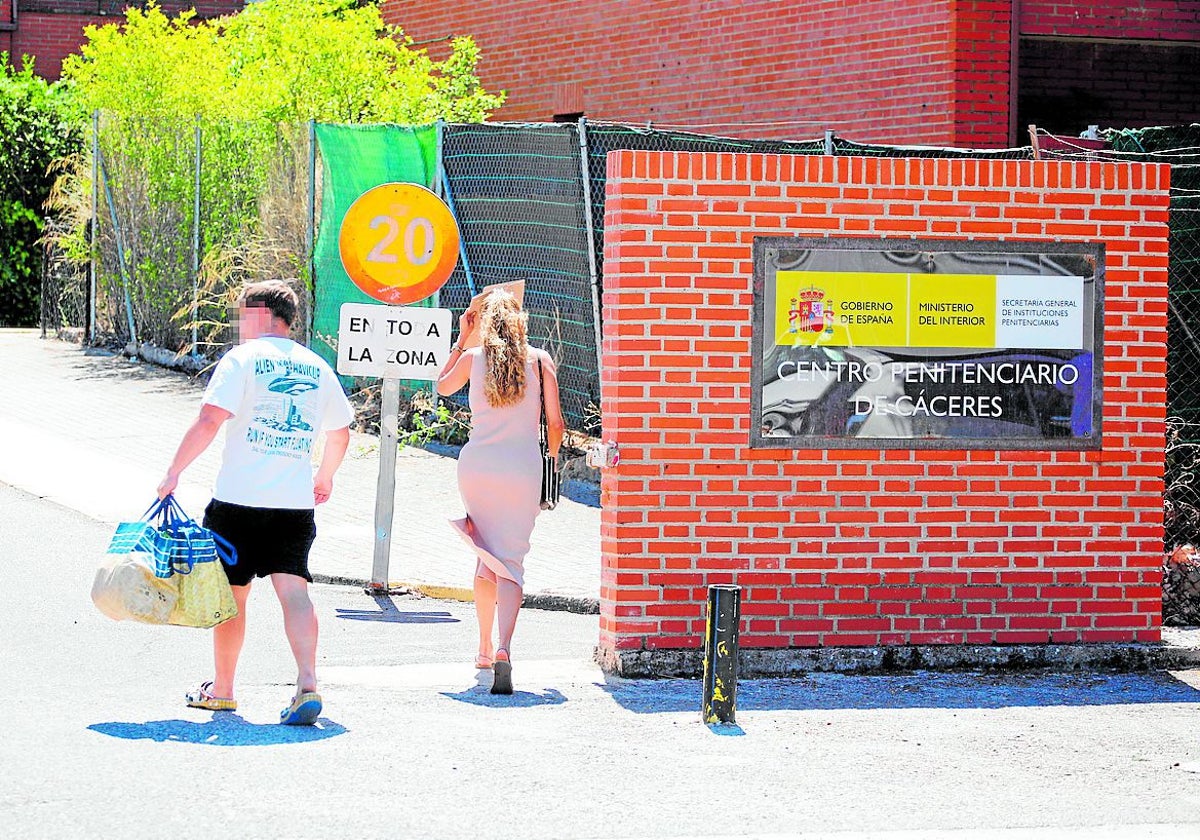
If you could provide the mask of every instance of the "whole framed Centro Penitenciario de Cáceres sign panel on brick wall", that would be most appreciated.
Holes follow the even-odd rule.
[[[750,444],[1099,449],[1104,246],[754,242]]]

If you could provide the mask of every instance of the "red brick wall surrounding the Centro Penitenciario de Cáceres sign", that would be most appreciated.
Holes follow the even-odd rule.
[[[613,152],[601,654],[1159,638],[1166,167]],[[751,450],[755,235],[1102,240],[1103,450]]]

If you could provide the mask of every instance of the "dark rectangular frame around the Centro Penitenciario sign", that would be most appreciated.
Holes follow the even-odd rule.
[[[774,343],[774,324],[767,324],[767,294],[775,294],[778,258],[784,252],[803,251],[876,251],[902,254],[1061,254],[1090,259],[1094,264],[1091,284],[1091,313],[1084,312],[1085,335],[1091,331],[1091,433],[1086,437],[857,437],[853,434],[766,434],[763,428],[763,374],[768,335]],[[755,236],[754,313],[751,329],[750,372],[750,448],[751,449],[899,449],[899,450],[1098,450],[1103,446],[1104,383],[1104,277],[1105,248],[1099,241],[1045,240],[959,240],[959,239],[868,239],[841,236]],[[896,272],[901,274],[901,272]],[[917,272],[913,272],[917,274]],[[936,272],[932,272],[936,274]],[[1052,280],[1055,275],[1031,274]],[[770,281],[770,282],[769,282]],[[774,306],[772,306],[774,308]],[[925,352],[938,348],[911,348]],[[952,349],[952,348],[946,348]],[[996,348],[1002,352],[1003,348]],[[1014,348],[1015,349],[1015,348]],[[1085,348],[1086,349],[1086,348]],[[914,354],[916,355],[916,354]]]

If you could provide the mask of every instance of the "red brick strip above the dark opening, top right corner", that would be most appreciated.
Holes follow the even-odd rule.
[[[1021,0],[1021,35],[1200,41],[1200,0]]]

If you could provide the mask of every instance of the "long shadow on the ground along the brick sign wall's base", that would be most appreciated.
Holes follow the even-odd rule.
[[[623,708],[700,712],[698,679],[599,684]],[[1200,703],[1200,690],[1165,672],[1151,673],[934,673],[856,676],[814,673],[738,683],[739,712],[821,709],[998,709],[1036,706]]]

